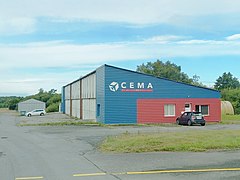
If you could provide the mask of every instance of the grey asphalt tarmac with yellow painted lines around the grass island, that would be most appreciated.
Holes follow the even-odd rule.
[[[37,122],[39,118],[41,122],[53,119],[51,115],[25,118],[14,112],[0,112],[0,180],[240,179],[240,151],[120,154],[102,153],[97,148],[105,137],[125,132],[240,130],[238,125],[16,126],[26,121]]]

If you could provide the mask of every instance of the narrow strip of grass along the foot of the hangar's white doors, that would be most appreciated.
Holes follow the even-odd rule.
[[[18,126],[102,126],[102,124],[97,122],[87,122],[87,121],[63,121],[63,122],[49,122],[49,123],[34,123],[34,124],[18,124]]]

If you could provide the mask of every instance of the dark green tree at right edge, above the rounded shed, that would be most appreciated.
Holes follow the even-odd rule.
[[[240,82],[236,77],[233,77],[233,75],[228,73],[223,73],[222,76],[219,76],[219,78],[216,80],[214,88],[217,90],[222,89],[236,89],[240,87]]]

